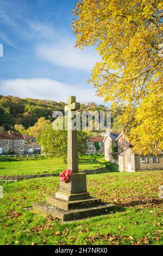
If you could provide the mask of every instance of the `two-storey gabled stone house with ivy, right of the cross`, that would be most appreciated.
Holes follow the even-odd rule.
[[[122,153],[130,146],[128,138],[124,135],[124,130],[120,132],[108,132],[103,140],[105,160],[115,162],[118,160],[118,154]]]

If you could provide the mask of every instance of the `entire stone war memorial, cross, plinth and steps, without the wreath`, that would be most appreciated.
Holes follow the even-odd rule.
[[[86,174],[78,172],[78,141],[77,129],[73,127],[73,118],[80,104],[75,96],[68,97],[68,138],[67,138],[67,168],[72,174],[67,181],[60,181],[59,191],[55,196],[47,198],[47,202],[34,203],[34,210],[62,221],[79,220],[86,217],[108,214],[115,205],[102,203],[101,199],[90,197],[86,188]]]

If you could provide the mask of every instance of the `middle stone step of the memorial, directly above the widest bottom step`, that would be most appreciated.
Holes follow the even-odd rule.
[[[85,199],[85,200],[66,201],[56,197],[48,197],[47,203],[52,204],[53,206],[56,206],[61,209],[75,210],[75,209],[83,209],[83,208],[98,206],[99,204],[101,204],[101,199],[90,197],[89,199]]]

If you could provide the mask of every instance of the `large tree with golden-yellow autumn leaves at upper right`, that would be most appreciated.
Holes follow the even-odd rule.
[[[89,80],[98,96],[124,108],[136,151],[162,150],[162,1],[80,0],[73,13],[76,47],[102,57]]]

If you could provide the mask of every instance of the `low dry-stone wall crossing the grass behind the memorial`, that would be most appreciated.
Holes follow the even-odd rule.
[[[80,170],[80,172],[83,172],[86,174],[105,173],[106,167],[97,168],[93,170]],[[11,175],[11,176],[0,175],[0,180],[28,180],[28,179],[59,176],[59,175],[60,173],[47,173],[47,174],[34,174],[34,175]]]

